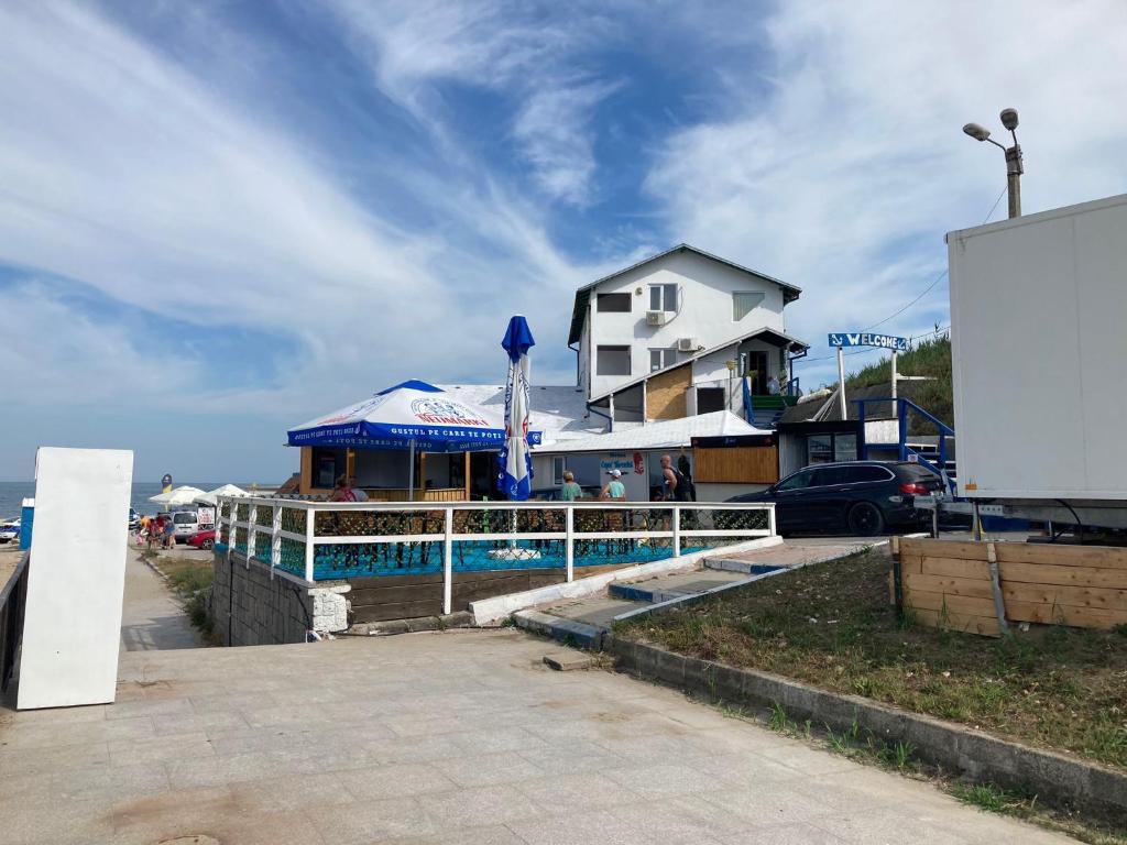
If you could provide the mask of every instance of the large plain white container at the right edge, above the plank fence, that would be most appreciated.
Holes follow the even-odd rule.
[[[947,243],[959,495],[1127,499],[1127,195]]]

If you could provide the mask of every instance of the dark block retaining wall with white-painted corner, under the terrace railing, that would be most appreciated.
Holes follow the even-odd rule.
[[[216,551],[211,619],[224,646],[279,646],[305,642],[307,632],[344,631],[348,626],[347,584],[310,588],[305,581],[238,553]]]

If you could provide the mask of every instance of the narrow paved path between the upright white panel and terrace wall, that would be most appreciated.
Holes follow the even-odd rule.
[[[194,649],[202,644],[165,580],[131,546],[125,562],[122,650]]]

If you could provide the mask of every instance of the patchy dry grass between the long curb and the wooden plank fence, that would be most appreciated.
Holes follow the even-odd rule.
[[[1127,770],[1122,634],[1035,625],[995,640],[900,626],[888,568],[887,552],[875,550],[616,630]]]

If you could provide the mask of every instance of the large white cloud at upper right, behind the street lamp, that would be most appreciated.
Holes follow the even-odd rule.
[[[1001,151],[964,123],[1001,132],[1019,109],[1027,213],[1122,190],[1118,0],[786,3],[766,32],[772,66],[728,68],[717,116],[668,141],[648,186],[689,242],[801,285],[789,324],[819,346],[922,291],[942,235],[1005,186]],[[930,330],[944,290],[882,328]]]

